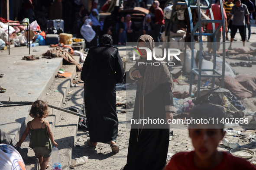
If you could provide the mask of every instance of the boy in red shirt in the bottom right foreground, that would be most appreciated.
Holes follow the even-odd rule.
[[[203,104],[190,111],[189,119],[207,119],[225,117],[217,106]],[[224,118],[225,119],[225,118]],[[217,151],[220,140],[224,138],[224,124],[190,124],[189,137],[194,151],[180,152],[172,156],[164,170],[256,170],[249,161],[234,157],[224,151]]]

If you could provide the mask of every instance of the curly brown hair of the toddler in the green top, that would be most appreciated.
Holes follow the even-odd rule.
[[[44,101],[37,100],[32,103],[31,109],[29,110],[29,116],[40,119],[49,116],[48,105]]]

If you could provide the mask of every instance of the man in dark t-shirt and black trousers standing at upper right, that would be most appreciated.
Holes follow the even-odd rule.
[[[243,46],[245,45],[245,19],[244,16],[246,15],[247,17],[247,24],[250,24],[249,21],[249,11],[247,9],[247,6],[241,3],[240,0],[235,0],[235,6],[232,7],[230,11],[230,16],[228,18],[228,21],[230,21],[231,17],[233,17],[233,23],[231,27],[231,39],[230,39],[230,46],[229,50],[232,50],[231,44],[234,40],[234,37],[237,33],[237,29],[239,29],[239,33],[241,35],[242,41],[243,41]]]

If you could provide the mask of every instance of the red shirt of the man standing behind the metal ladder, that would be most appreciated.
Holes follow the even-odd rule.
[[[211,5],[211,9],[212,9],[212,13],[214,15],[214,20],[221,20],[221,13],[220,13],[220,5],[217,3],[214,3]],[[206,15],[209,13],[209,9],[207,9],[206,11]],[[226,11],[223,8],[223,13],[224,13],[224,18],[227,19],[227,15],[226,15]],[[207,15],[210,17],[210,13],[209,15]],[[211,17],[210,17],[211,18]],[[220,23],[215,23],[215,29],[220,25]],[[208,23],[207,24],[207,29],[212,30],[212,24]],[[222,31],[222,27],[220,28],[220,31]]]

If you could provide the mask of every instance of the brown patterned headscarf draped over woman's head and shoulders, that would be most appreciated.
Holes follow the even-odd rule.
[[[137,45],[139,44],[139,41],[144,41],[149,49],[151,49],[153,55],[153,49],[155,47],[154,39],[150,35],[142,35],[139,37]],[[139,62],[147,63],[147,65],[139,65]],[[172,83],[171,89],[174,88],[172,76],[166,64],[164,65],[161,63],[159,66],[148,65],[149,63],[154,62],[159,61],[155,60],[154,57],[152,57],[151,61],[147,61],[146,58],[139,57],[139,60],[137,60],[136,64],[133,66],[133,68],[139,70],[140,75],[142,76],[140,79],[138,79],[138,83],[140,86],[143,86],[143,95],[149,94],[151,91],[159,87],[159,85],[167,82]]]

